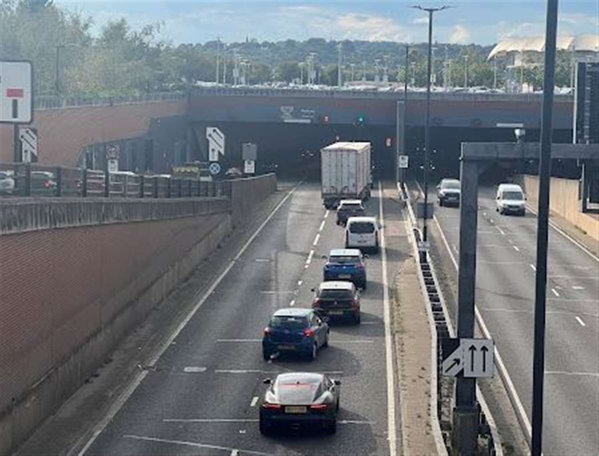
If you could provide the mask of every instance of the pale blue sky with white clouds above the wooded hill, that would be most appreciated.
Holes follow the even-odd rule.
[[[438,1],[202,1],[58,0],[56,4],[92,16],[95,32],[125,17],[133,28],[162,22],[161,38],[173,44],[212,41],[364,39],[425,42],[428,14],[410,8],[452,8],[434,14],[433,40],[490,45],[506,37],[544,32],[544,0]],[[599,34],[599,0],[561,0],[558,35]]]

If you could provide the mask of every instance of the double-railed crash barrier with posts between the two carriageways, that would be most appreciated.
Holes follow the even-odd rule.
[[[456,334],[453,329],[452,323],[449,319],[447,307],[445,305],[443,294],[440,293],[440,287],[438,285],[437,276],[435,275],[434,265],[432,264],[431,257],[428,251],[420,256],[418,245],[422,241],[422,234],[418,228],[414,210],[412,208],[413,201],[410,199],[410,193],[407,186],[401,187],[398,184],[398,190],[400,196],[406,203],[406,208],[409,214],[408,221],[410,224],[410,230],[412,236],[410,238],[413,241],[413,250],[415,253],[415,259],[418,263],[418,269],[420,271],[420,285],[425,297],[426,313],[429,317],[429,327],[431,328],[431,338],[434,344],[434,356],[432,360],[432,372],[435,373],[434,378],[431,379],[431,410],[437,411],[437,419],[433,425],[434,428],[438,425],[438,432],[441,434],[443,441],[443,449],[440,448],[440,443],[437,442],[437,451],[439,454],[455,454],[452,449],[452,410],[453,410],[453,378],[444,377],[441,373],[441,342],[446,338],[455,338]],[[434,385],[432,383],[434,382]],[[432,399],[432,396],[435,399]],[[486,404],[485,398],[483,397],[480,388],[476,387],[477,397],[477,409],[479,411],[479,441],[483,440],[482,454],[489,456],[503,456],[503,448],[501,446],[501,440],[497,431],[497,426],[492,418],[491,412],[489,411],[488,405]],[[437,436],[435,436],[437,437]],[[438,438],[435,438],[437,441]]]

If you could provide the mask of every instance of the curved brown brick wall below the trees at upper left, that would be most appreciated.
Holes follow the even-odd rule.
[[[153,118],[186,114],[186,101],[35,111],[40,163],[76,166],[84,146],[146,135]],[[0,126],[0,162],[13,162],[13,126]]]

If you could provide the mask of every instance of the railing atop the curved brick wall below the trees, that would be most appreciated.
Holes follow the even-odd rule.
[[[38,111],[56,110],[64,108],[76,108],[87,106],[113,106],[123,104],[151,103],[164,101],[180,101],[187,97],[186,92],[158,92],[146,93],[132,96],[36,96],[34,98],[34,109]]]

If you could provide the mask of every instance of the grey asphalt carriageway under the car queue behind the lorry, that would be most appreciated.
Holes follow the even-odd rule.
[[[380,205],[378,195],[374,190],[368,214],[380,217],[381,206],[385,226],[400,226],[397,205],[389,199]],[[383,267],[392,277],[405,255],[400,248],[388,245],[384,255],[367,260],[360,326],[332,324],[329,347],[319,351],[316,361],[262,360],[262,330],[270,316],[279,308],[310,306],[310,289],[322,279],[322,255],[343,247],[343,239],[335,213],[322,206],[319,184],[299,185],[132,388],[116,415],[88,442],[85,454],[401,452],[400,407],[388,400],[397,386],[389,370],[389,361],[393,365],[395,360],[386,351],[383,285]],[[328,372],[341,379],[341,412],[333,436],[259,433],[262,380],[293,370]]]

